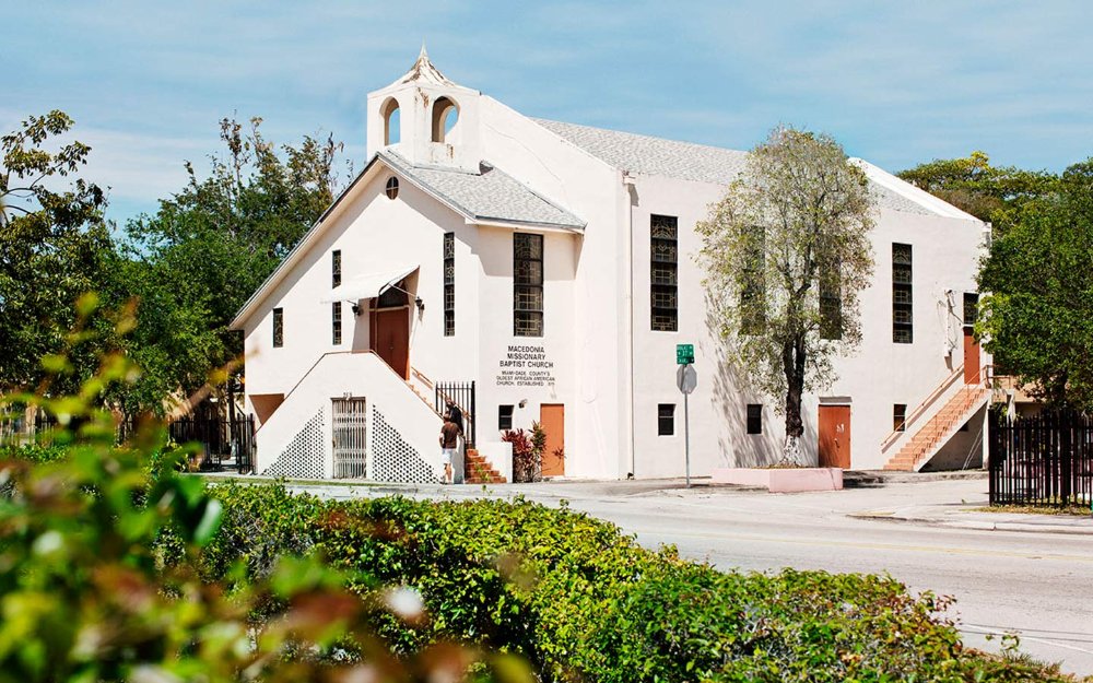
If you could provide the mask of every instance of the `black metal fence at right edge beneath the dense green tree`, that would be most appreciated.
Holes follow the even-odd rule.
[[[990,420],[991,505],[1093,504],[1093,419],[1045,411],[1009,422]]]

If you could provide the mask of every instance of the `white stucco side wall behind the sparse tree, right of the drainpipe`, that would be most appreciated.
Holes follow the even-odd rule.
[[[766,464],[780,458],[785,421],[775,402],[750,392],[727,366],[722,342],[706,319],[702,270],[695,256],[702,240],[694,233],[709,203],[724,188],[671,178],[639,177],[634,207],[634,435],[635,475],[677,476],[684,467],[683,397],[675,386],[675,345],[695,344],[698,386],[690,397],[691,471],[705,475],[716,467]],[[650,329],[650,215],[679,219],[679,331]],[[847,397],[851,409],[851,466],[879,469],[889,456],[881,440],[892,429],[894,403],[908,412],[952,369],[963,363],[956,320],[947,320],[940,306],[945,290],[954,292],[955,314],[962,313],[962,293],[974,292],[973,274],[982,245],[982,224],[975,221],[883,210],[873,229],[873,284],[861,296],[862,342],[858,351],[836,364],[839,379],[804,399],[804,447],[816,450],[820,396]],[[892,342],[892,243],[913,246],[914,343]],[[621,249],[620,249],[621,250]],[[956,342],[953,356],[942,344]],[[955,365],[952,365],[955,363]],[[780,402],[780,401],[779,401]],[[657,407],[672,403],[675,433],[657,435]],[[747,405],[764,405],[763,435],[745,429]]]

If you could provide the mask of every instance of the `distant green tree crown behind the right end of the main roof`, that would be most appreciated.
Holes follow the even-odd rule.
[[[1026,201],[1053,190],[1056,176],[1043,170],[996,167],[984,152],[964,158],[933,160],[901,172],[904,180],[945,200],[999,232],[1013,220]]]

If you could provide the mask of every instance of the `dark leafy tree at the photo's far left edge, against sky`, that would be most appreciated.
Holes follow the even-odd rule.
[[[103,191],[81,178],[67,181],[91,152],[64,140],[72,125],[54,110],[0,137],[0,391],[46,377],[40,360],[77,341],[77,299],[107,276],[113,245]],[[94,373],[97,353],[83,345],[67,357],[81,372],[58,388],[74,390]]]

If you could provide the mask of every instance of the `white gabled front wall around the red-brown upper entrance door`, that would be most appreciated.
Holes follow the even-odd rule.
[[[462,283],[459,278],[478,270],[468,244],[473,243],[475,228],[404,179],[398,198],[388,199],[383,189],[390,175],[379,168],[369,182],[362,182],[344,208],[330,216],[321,238],[248,320],[248,395],[285,393],[322,353],[369,348],[366,301],[356,319],[350,304],[343,303],[342,343],[332,343],[331,305],[320,299],[332,288],[331,252],[336,249],[342,252],[342,282],[392,264],[420,264],[409,288],[416,292],[425,308],[419,314],[411,307],[411,365],[434,380],[474,376],[478,288],[472,284],[473,275]],[[456,337],[444,337],[443,235],[447,232],[456,233],[457,331],[463,323],[462,333]],[[277,307],[284,310],[284,346],[280,349],[272,346],[272,311]],[[451,376],[454,364],[459,377]]]

